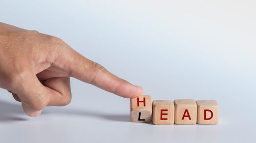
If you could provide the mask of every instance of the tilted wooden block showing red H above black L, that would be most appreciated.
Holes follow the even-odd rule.
[[[151,122],[152,121],[152,99],[149,95],[141,95],[131,98],[131,121]]]

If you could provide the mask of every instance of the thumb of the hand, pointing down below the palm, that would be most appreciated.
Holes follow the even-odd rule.
[[[34,74],[22,74],[16,83],[18,85],[15,86],[15,93],[21,100],[24,111],[30,117],[40,115],[50,101],[48,90]]]

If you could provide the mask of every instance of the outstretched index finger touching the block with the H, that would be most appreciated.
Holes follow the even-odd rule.
[[[95,63],[69,47],[59,54],[58,66],[65,69],[69,76],[95,85],[121,97],[133,98],[143,94],[142,87],[133,85],[117,77],[103,66]]]

